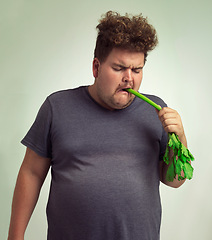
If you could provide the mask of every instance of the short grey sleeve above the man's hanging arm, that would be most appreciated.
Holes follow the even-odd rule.
[[[48,98],[42,104],[30,130],[21,143],[42,157],[51,158],[52,111]]]

